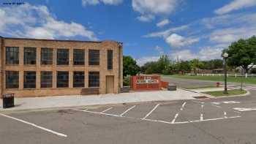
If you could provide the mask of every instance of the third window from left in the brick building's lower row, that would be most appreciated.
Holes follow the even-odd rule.
[[[41,72],[41,88],[53,87],[53,72]]]

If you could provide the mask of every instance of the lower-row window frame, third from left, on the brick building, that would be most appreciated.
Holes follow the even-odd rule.
[[[44,75],[44,74],[46,74],[46,75]],[[50,77],[50,80],[47,80],[47,77]],[[40,72],[40,88],[53,88],[53,72],[52,71],[41,71]]]

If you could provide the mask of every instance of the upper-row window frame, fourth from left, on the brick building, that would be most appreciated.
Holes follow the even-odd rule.
[[[63,50],[63,51],[61,52],[61,50]],[[65,53],[65,52],[67,52],[67,53]],[[64,54],[64,53],[65,53],[65,56],[61,56],[61,54]],[[67,60],[64,61],[63,60],[64,58],[67,58]],[[56,61],[57,61],[57,65],[68,66],[69,65],[69,49],[67,49],[67,48],[58,48],[57,49]]]

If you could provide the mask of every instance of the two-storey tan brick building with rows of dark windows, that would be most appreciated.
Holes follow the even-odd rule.
[[[123,86],[120,42],[0,37],[0,46],[0,94],[108,94]]]

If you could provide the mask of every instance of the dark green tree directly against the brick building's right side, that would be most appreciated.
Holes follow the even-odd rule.
[[[140,71],[140,67],[131,56],[123,56],[123,76],[136,75]]]

